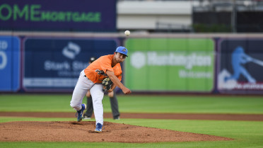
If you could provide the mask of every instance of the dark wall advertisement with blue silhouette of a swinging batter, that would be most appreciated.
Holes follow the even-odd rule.
[[[218,90],[262,93],[263,38],[221,39],[218,45]]]

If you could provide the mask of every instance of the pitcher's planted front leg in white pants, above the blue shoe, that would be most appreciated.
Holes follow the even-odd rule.
[[[94,84],[94,86],[90,89],[90,93],[93,100],[96,125],[97,123],[103,125],[103,85]]]

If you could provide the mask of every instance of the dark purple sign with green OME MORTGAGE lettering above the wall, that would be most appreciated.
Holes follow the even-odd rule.
[[[116,0],[1,0],[5,30],[116,30]]]

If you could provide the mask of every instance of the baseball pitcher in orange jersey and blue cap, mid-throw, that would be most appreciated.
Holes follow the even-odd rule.
[[[87,91],[90,90],[90,94],[93,98],[93,109],[96,120],[95,132],[102,132],[103,128],[103,80],[108,77],[110,81],[112,81],[112,84],[108,79],[104,82],[105,84],[111,84],[110,87],[104,86],[104,90],[108,88],[107,91],[111,92],[118,86],[119,89],[122,89],[124,94],[131,93],[121,82],[122,68],[120,63],[124,62],[127,53],[128,50],[126,47],[117,47],[114,55],[105,55],[98,58],[88,65],[86,69],[83,69],[78,77],[70,106],[77,111],[77,121],[80,122],[83,118],[83,111],[86,110],[86,104],[82,104],[83,97],[86,95]]]

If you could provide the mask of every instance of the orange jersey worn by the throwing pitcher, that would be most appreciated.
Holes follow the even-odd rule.
[[[122,67],[119,63],[112,67],[112,59],[114,55],[105,55],[94,62],[92,62],[86,69],[84,69],[85,75],[93,81],[95,84],[100,84],[103,79],[107,77],[106,72],[111,71],[114,72],[115,76],[122,81]]]

